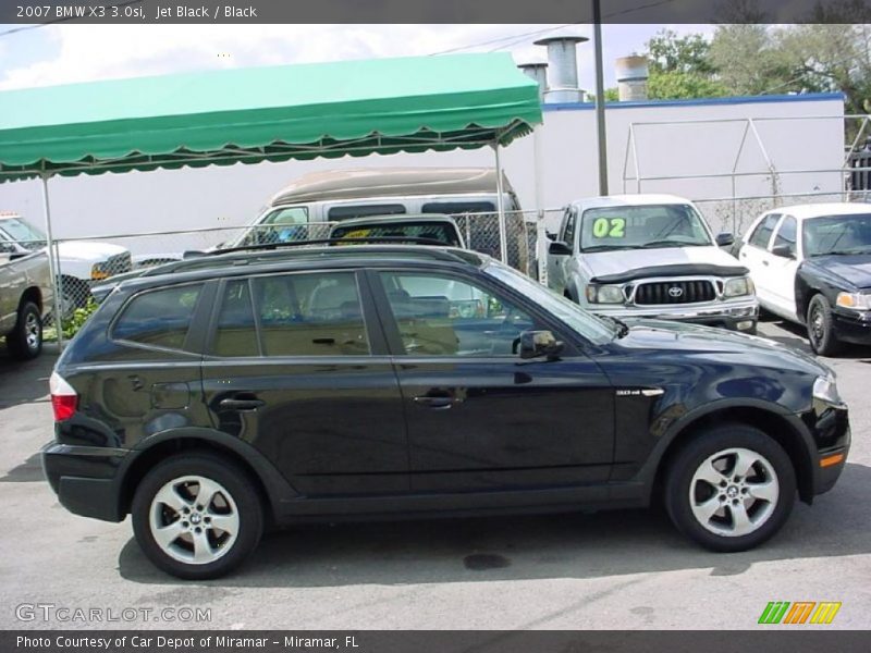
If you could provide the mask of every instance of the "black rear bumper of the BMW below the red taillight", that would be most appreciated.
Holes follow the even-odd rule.
[[[50,442],[42,448],[42,469],[61,505],[75,515],[123,521],[119,468],[127,449]]]

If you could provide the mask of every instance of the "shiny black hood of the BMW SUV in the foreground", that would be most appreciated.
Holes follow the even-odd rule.
[[[809,354],[756,335],[667,320],[631,319],[626,323],[630,326],[629,333],[616,341],[624,348],[673,352],[720,364],[761,366],[814,375],[831,371]]]

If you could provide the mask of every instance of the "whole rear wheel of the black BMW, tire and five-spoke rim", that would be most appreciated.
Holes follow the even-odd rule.
[[[255,550],[263,530],[250,478],[211,454],[168,458],[142,480],[133,498],[133,530],[143,552],[179,578],[223,576]]]

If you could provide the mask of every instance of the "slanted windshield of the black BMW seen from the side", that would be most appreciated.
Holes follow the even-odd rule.
[[[483,271],[523,293],[593,344],[603,345],[617,335],[618,329],[610,322],[587,312],[571,299],[566,299],[507,266],[492,261],[483,268]]]

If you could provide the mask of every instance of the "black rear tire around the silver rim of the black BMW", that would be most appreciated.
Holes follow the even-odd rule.
[[[189,495],[191,498],[196,497],[195,493],[203,485],[183,482],[189,477],[199,477],[217,483],[220,489],[210,503],[203,506],[201,510],[195,510],[196,501],[188,502],[185,501],[185,497],[183,497],[182,505],[188,509],[187,515],[181,510],[171,510],[167,504],[159,501],[158,493],[168,486],[176,490],[176,496],[180,491],[187,492],[189,489],[196,488]],[[224,576],[245,562],[257,547],[262,535],[263,508],[260,496],[254,488],[255,484],[249,475],[222,456],[210,453],[191,453],[167,458],[151,469],[136,488],[131,508],[136,541],[143,553],[156,567],[177,578],[207,580]],[[237,517],[234,538],[229,531],[207,526],[212,518],[217,520],[219,517],[231,517],[234,514],[233,507],[235,507]],[[152,509],[155,520],[162,520],[168,526],[179,525],[175,528],[183,531],[179,538],[165,546],[159,544],[155,538],[151,526]],[[194,521],[194,513],[199,516],[196,521]],[[199,526],[194,526],[195,523]],[[200,563],[193,560],[194,530],[197,528],[205,533],[201,535],[203,538],[209,539],[209,549],[207,550],[209,557],[204,556],[204,560]],[[200,530],[197,530],[196,533],[200,533]],[[187,551],[188,549],[189,551]],[[185,555],[189,555],[192,559],[184,560],[174,557]]]

